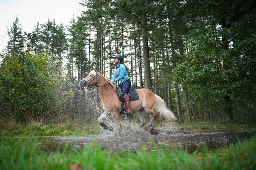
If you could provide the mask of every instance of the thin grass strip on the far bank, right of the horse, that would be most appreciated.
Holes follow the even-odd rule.
[[[242,129],[251,130],[256,128],[256,123],[250,122],[218,122],[218,123],[186,123],[192,130],[222,130],[222,129]]]

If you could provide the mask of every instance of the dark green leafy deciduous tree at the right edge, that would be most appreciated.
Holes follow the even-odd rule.
[[[192,2],[188,4],[192,5]],[[228,13],[221,10],[224,7]],[[186,36],[188,53],[174,76],[176,82],[188,86],[193,100],[200,104],[208,100],[211,101],[208,106],[216,107],[225,96],[232,100],[230,105],[233,106],[237,101],[254,101],[256,37],[254,28],[248,23],[255,23],[251,18],[256,16],[251,10],[244,12],[244,9],[238,8],[235,12],[234,4],[208,1],[200,10],[209,15],[202,16],[199,12],[190,21],[191,29]],[[233,18],[229,18],[229,14]]]

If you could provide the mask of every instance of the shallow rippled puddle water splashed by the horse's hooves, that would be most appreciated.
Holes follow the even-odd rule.
[[[144,148],[149,151],[157,150],[158,147],[173,146],[183,147],[189,153],[197,148],[209,150],[218,149],[238,140],[250,138],[255,132],[242,130],[219,130],[219,131],[176,131],[174,127],[155,127],[158,135],[152,135],[148,130],[123,128],[122,134],[116,132],[102,131],[101,135],[83,137],[48,137],[43,140],[42,150],[62,150],[66,143],[76,148],[82,148],[90,143],[97,143],[101,148],[113,151],[126,151]]]

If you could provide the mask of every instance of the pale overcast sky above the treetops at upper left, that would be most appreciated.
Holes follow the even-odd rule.
[[[23,31],[32,32],[37,22],[45,23],[48,18],[56,23],[68,25],[73,14],[76,18],[84,7],[81,0],[0,0],[0,51],[7,45],[7,27],[19,16]]]

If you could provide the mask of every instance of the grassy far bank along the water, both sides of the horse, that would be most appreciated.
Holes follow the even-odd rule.
[[[154,123],[154,127],[167,124],[167,122]],[[256,129],[256,123],[244,122],[218,122],[218,123],[184,123],[178,125],[179,128],[186,127],[193,131],[204,130],[231,130],[240,129],[251,131]],[[146,127],[147,128],[147,127]],[[0,133],[4,137],[45,137],[45,136],[86,136],[98,135],[101,133],[98,123],[83,124],[77,122],[64,123],[30,123],[28,125],[20,123],[0,123]]]

